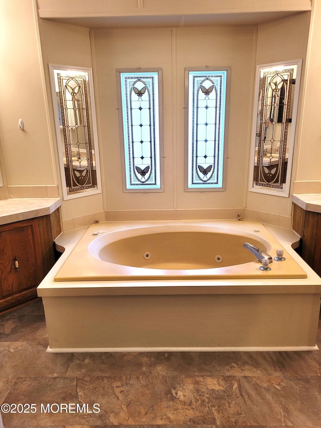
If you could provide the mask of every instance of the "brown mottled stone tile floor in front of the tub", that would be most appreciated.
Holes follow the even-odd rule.
[[[47,346],[40,299],[0,316],[0,404],[24,404],[2,412],[5,428],[321,428],[319,351],[46,354]]]

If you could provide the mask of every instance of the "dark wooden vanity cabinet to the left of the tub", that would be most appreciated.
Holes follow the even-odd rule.
[[[0,313],[37,297],[37,287],[56,261],[59,210],[0,226]]]

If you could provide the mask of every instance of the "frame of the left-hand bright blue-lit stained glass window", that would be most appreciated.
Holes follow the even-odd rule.
[[[137,79],[139,75],[148,74],[148,73],[157,73],[158,75],[158,167],[159,167],[159,187],[127,187],[127,172],[126,172],[126,153],[125,153],[125,137],[124,137],[124,118],[123,118],[123,100],[122,100],[122,84],[121,84],[121,74],[137,74]],[[126,68],[126,69],[116,69],[116,81],[117,81],[117,96],[118,96],[118,113],[119,113],[119,136],[120,136],[120,149],[121,149],[121,158],[123,167],[122,170],[122,187],[123,192],[164,192],[164,147],[163,147],[163,69],[162,68]],[[129,184],[130,185],[130,184]]]

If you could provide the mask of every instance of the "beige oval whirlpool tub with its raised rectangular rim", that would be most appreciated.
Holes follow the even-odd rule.
[[[98,234],[98,235],[96,235]],[[55,281],[144,281],[306,278],[284,251],[270,271],[243,243],[270,253],[282,246],[250,223],[158,222],[91,226],[55,276]]]

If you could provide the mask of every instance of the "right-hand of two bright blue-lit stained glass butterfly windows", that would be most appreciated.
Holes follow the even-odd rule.
[[[224,188],[228,69],[186,70],[187,188]]]

